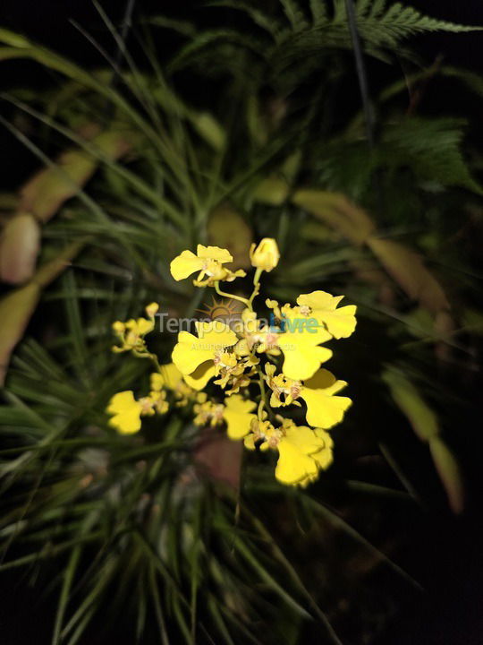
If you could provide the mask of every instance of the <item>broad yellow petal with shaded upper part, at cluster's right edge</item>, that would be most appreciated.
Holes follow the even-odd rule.
[[[334,396],[347,383],[337,381],[334,374],[320,369],[306,381],[301,389],[301,398],[307,404],[307,422],[310,426],[330,428],[343,420],[343,414],[352,400]]]

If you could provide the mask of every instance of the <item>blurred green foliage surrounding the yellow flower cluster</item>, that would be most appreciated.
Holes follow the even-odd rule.
[[[465,506],[455,446],[476,408],[481,166],[472,125],[420,103],[438,83],[483,87],[402,43],[470,28],[359,0],[366,55],[412,65],[373,99],[369,146],[346,4],[211,5],[231,26],[152,17],[136,59],[99,7],[123,66],[105,54],[94,71],[0,30],[0,60],[57,79],[3,95],[2,123],[41,168],[0,203],[14,285],[0,301],[4,372],[17,346],[0,411],[0,571],[57,594],[54,644],[113,629],[130,642],[372,642],[419,593],[384,513],[411,498],[442,509],[443,491],[453,512]],[[166,29],[182,40],[169,61]],[[243,266],[261,236],[283,252],[267,295],[323,288],[359,306],[336,359],[354,406],[334,468],[304,491],[278,486],[267,457],[242,467],[236,491],[216,469],[204,477],[181,412],[129,439],[106,425],[106,402],[148,371],[111,353],[111,323],[152,300],[193,314],[200,293],[172,280],[174,255],[210,241]],[[174,339],[155,342],[167,362]]]

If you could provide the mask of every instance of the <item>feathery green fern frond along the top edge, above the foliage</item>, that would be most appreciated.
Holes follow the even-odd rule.
[[[288,24],[284,26],[275,15],[268,15],[258,8],[255,2],[248,0],[215,0],[216,5],[223,5],[245,13],[269,36],[263,39],[250,38],[246,33],[237,30],[210,30],[199,34],[187,45],[174,62],[174,68],[184,65],[193,56],[203,52],[210,62],[210,71],[217,68],[233,67],[233,56],[227,59],[216,49],[216,44],[231,43],[233,47],[255,53],[257,59],[250,65],[267,64],[273,77],[286,78],[288,86],[296,82],[291,67],[297,66],[301,79],[307,78],[306,71],[313,70],[320,64],[317,56],[324,56],[331,49],[351,49],[352,39],[347,21],[344,0],[332,0],[331,10],[326,0],[309,0],[310,20],[303,12],[300,0],[279,0]],[[431,18],[410,6],[401,3],[388,5],[387,0],[359,0],[356,6],[357,26],[364,50],[369,56],[375,56],[389,62],[396,50],[398,56],[411,57],[411,52],[402,50],[402,41],[412,36],[430,31],[447,31],[463,33],[482,29]],[[209,51],[208,51],[209,49]],[[258,70],[263,76],[263,71]],[[256,73],[250,69],[250,75]]]

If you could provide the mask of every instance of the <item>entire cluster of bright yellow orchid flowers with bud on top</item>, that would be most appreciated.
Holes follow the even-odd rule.
[[[196,272],[195,286],[214,287],[218,294],[241,301],[243,310],[235,321],[198,321],[196,334],[180,331],[169,366],[158,366],[144,341],[154,327],[156,305],[148,306],[148,319],[114,323],[122,343],[116,350],[152,357],[157,373],[151,375],[147,397],[135,400],[131,391],[113,397],[107,409],[113,415],[111,424],[122,433],[137,432],[140,417],[163,414],[173,400],[176,406],[191,406],[197,426],[225,425],[228,436],[243,440],[249,450],[278,452],[275,477],[284,484],[307,486],[328,468],[333,442],[327,430],[342,421],[352,401],[339,395],[347,383],[321,366],[332,357],[332,350],[323,344],[352,334],[356,307],[339,306],[343,296],[313,291],[299,296],[296,305],[267,300],[273,324],[263,323],[253,301],[263,271],[275,269],[279,258],[274,239],[251,247],[256,271],[250,297],[221,291],[220,281],[245,276],[244,271],[224,266],[233,262],[226,249],[199,245],[196,255],[183,251],[174,258],[174,280]],[[208,396],[211,381],[221,397]],[[296,425],[285,416],[286,409],[299,409],[298,417],[303,412],[307,425]]]

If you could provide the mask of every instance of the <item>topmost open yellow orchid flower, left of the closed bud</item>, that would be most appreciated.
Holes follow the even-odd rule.
[[[242,270],[233,272],[226,269],[223,266],[226,262],[233,262],[232,254],[226,249],[198,245],[196,255],[187,250],[175,257],[170,264],[170,271],[174,280],[184,280],[198,271],[198,278],[194,280],[197,287],[205,287],[218,280],[231,282],[246,275]]]

